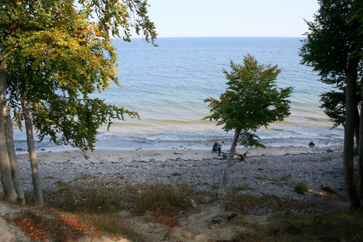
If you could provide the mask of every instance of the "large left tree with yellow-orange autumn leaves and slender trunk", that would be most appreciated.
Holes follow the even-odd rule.
[[[84,151],[93,150],[102,123],[109,127],[111,118],[123,119],[124,114],[138,117],[88,95],[111,83],[120,86],[110,36],[130,41],[132,28],[154,44],[157,34],[146,0],[79,0],[77,6],[73,0],[2,0],[0,6],[0,60],[8,73],[0,79],[8,79],[9,104],[18,124],[25,120],[32,171],[37,170],[33,125],[40,138],[50,135],[56,144]],[[41,205],[34,177],[38,180],[36,173],[34,200]]]

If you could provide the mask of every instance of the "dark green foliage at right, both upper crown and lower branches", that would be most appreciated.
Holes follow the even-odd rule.
[[[356,72],[357,68],[359,74],[352,76],[357,82],[356,106],[362,102],[358,81],[362,75],[362,1],[324,0],[319,1],[319,5],[314,21],[306,21],[309,32],[302,40],[299,56],[302,64],[319,71],[323,83],[335,85],[338,89],[320,95],[320,107],[334,122],[335,128],[345,122],[347,74],[352,70]]]

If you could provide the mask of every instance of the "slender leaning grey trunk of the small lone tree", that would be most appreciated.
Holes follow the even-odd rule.
[[[238,141],[238,137],[240,136],[241,130],[238,128],[236,129],[236,132],[234,133],[231,149],[229,150],[228,158],[226,161],[226,164],[223,169],[221,181],[219,183],[219,190],[218,190],[218,200],[226,200],[227,198],[227,182],[229,177],[229,172],[231,171],[232,161],[234,153],[236,153],[236,145]]]

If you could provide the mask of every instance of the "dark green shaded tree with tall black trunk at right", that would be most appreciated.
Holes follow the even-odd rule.
[[[359,140],[362,138],[362,131],[358,132],[357,125],[362,125],[362,122],[357,121],[361,99],[357,98],[357,87],[362,76],[362,1],[320,0],[319,5],[314,21],[306,21],[309,32],[305,33],[307,38],[302,40],[299,55],[302,57],[302,64],[312,66],[319,72],[322,82],[329,81],[326,83],[341,87],[345,93],[344,120],[340,122],[344,122],[344,181],[352,208],[363,205],[359,201],[354,173],[354,134],[359,133]],[[342,102],[335,103],[341,110]],[[360,116],[362,115],[361,111]],[[360,156],[361,152],[363,149],[359,151]],[[360,175],[358,179],[362,180],[363,176]],[[363,190],[359,194],[362,196]]]

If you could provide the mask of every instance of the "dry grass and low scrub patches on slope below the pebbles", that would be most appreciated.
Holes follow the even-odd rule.
[[[122,180],[124,182],[121,182]],[[276,214],[268,216],[268,225],[264,227],[258,223],[244,221],[244,216],[236,217],[232,222],[249,228],[249,232],[240,234],[228,242],[363,241],[362,209],[335,211],[315,216],[307,215],[304,213],[314,209],[314,206],[317,205],[286,200],[269,194],[262,197],[241,194],[240,191],[246,189],[251,188],[236,186],[231,189],[227,200],[232,203],[227,207],[228,211],[237,214],[257,214],[254,211],[265,211],[258,215]],[[67,233],[64,233],[65,235],[62,237],[63,235],[54,232],[52,236],[56,236],[57,241],[65,241],[66,237],[76,238],[82,233],[95,233],[95,236],[108,234],[140,242],[147,241],[147,239],[122,223],[122,218],[118,214],[120,210],[132,208],[134,210],[132,216],[143,214],[146,211],[153,212],[154,216],[148,217],[148,222],[179,226],[178,221],[173,220],[172,217],[180,210],[192,209],[189,202],[190,197],[193,197],[199,204],[214,201],[216,197],[213,189],[209,193],[201,192],[196,189],[196,185],[182,181],[178,181],[174,186],[165,184],[131,185],[127,181],[125,182],[125,179],[97,182],[86,178],[76,179],[69,183],[59,181],[56,190],[44,191],[43,195],[48,208],[56,209],[48,210],[48,212],[50,211],[55,216],[73,216],[67,217],[68,220],[77,222],[69,225],[58,217],[51,221],[44,220],[44,217],[38,218],[34,214],[22,215],[20,220],[26,218],[28,221],[37,223],[38,227],[41,226],[41,223],[43,226],[45,224],[45,226],[54,227],[55,222],[58,221],[58,226],[64,227]],[[31,201],[29,194],[27,200]],[[291,210],[301,213],[294,213]],[[87,230],[76,229],[86,228],[82,227],[86,225]],[[41,233],[38,235],[44,236]]]

